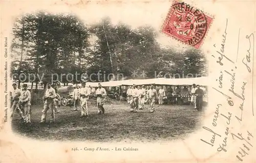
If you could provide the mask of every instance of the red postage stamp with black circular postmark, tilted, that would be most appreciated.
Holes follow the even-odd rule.
[[[184,2],[174,1],[162,32],[199,49],[213,18]]]

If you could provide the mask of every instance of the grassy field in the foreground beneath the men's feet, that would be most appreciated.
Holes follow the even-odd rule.
[[[187,105],[156,105],[154,113],[147,109],[129,112],[125,102],[105,104],[104,108],[105,114],[98,115],[95,103],[91,102],[89,118],[80,118],[80,111],[61,106],[54,124],[49,125],[49,111],[47,123],[41,125],[42,105],[31,106],[31,127],[20,124],[15,113],[12,128],[17,134],[41,140],[155,142],[184,137],[195,131],[203,114]]]

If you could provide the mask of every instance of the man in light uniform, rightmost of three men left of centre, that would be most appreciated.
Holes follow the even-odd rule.
[[[98,107],[98,114],[104,114],[105,109],[103,107],[105,96],[106,96],[106,90],[101,86],[101,84],[98,84],[98,88],[96,90],[96,96],[97,96],[97,107]]]

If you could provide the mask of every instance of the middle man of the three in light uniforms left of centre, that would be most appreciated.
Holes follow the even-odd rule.
[[[82,87],[80,89],[80,101],[81,101],[81,116],[88,118],[88,100],[90,96],[90,88],[86,87],[86,83],[82,83]]]

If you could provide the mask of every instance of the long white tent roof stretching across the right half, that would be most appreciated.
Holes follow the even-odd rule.
[[[86,86],[97,87],[98,83],[102,86],[121,86],[121,85],[192,85],[199,84],[206,86],[208,84],[208,77],[198,78],[155,78],[155,79],[131,79],[131,80],[119,80],[119,81],[108,81],[108,82],[87,82]]]

